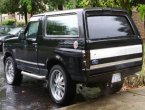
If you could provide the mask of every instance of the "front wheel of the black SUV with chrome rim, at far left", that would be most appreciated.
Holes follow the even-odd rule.
[[[17,69],[16,63],[12,57],[6,58],[4,70],[6,82],[8,84],[16,86],[21,84],[23,76],[21,71]]]

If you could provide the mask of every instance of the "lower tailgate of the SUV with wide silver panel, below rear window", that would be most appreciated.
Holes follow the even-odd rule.
[[[102,48],[103,44],[105,47],[102,46]],[[142,65],[140,39],[89,41],[88,48],[90,49],[90,70],[96,70],[95,74]]]

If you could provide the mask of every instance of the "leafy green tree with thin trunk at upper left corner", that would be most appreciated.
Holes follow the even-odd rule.
[[[1,13],[15,13],[19,12],[25,15],[25,22],[27,23],[27,13],[31,15],[40,13],[46,10],[45,2],[47,0],[1,0]]]

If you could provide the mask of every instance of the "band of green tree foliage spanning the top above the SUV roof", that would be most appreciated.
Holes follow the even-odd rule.
[[[49,10],[63,10],[63,8],[88,8],[88,7],[113,7],[123,8],[131,12],[133,6],[145,4],[144,0],[1,0],[0,13],[19,12],[25,15],[27,23],[27,13],[31,15]],[[139,10],[142,6],[139,5]],[[140,13],[143,13],[140,11]],[[142,15],[142,14],[141,14]]]

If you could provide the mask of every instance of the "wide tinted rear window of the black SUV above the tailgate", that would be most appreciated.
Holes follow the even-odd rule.
[[[134,35],[125,16],[91,16],[87,18],[87,22],[91,39]]]

